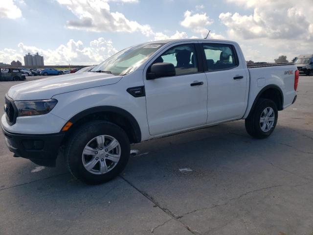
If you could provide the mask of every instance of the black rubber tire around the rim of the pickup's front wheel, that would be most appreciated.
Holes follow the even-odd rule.
[[[100,135],[109,135],[120,144],[121,156],[117,164],[107,173],[93,174],[84,166],[82,155],[85,146],[90,140]],[[128,136],[119,126],[107,121],[90,121],[79,127],[69,138],[65,148],[67,168],[78,180],[90,184],[102,184],[112,180],[122,172],[130,156]]]

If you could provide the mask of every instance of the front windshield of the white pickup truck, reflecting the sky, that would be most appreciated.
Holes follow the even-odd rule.
[[[106,72],[114,75],[126,75],[142,65],[164,43],[145,43],[129,47],[93,68],[90,72]]]

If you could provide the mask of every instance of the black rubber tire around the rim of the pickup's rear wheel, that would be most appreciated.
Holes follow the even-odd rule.
[[[260,118],[263,111],[270,107],[274,111],[274,124],[271,129],[267,132],[264,132],[261,129]],[[246,131],[247,133],[257,139],[264,139],[270,136],[270,134],[274,131],[275,126],[277,124],[278,118],[278,110],[276,104],[270,99],[259,99],[254,106],[253,110],[251,110],[249,116],[245,120]]]

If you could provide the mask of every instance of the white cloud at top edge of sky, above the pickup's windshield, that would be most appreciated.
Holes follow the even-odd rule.
[[[77,17],[67,21],[71,29],[84,29],[95,32],[136,32],[146,36],[153,32],[148,24],[139,24],[127,19],[120,12],[111,12],[110,0],[57,0]],[[111,0],[117,2],[137,2],[137,0]]]

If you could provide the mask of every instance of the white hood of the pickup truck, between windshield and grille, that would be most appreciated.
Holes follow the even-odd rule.
[[[114,84],[121,78],[100,72],[70,73],[15,85],[8,96],[13,100],[50,99],[56,94]]]

